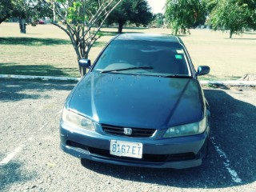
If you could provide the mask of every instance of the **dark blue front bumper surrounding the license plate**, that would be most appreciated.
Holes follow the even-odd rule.
[[[161,131],[158,132],[160,134]],[[206,156],[209,128],[203,134],[180,138],[158,138],[158,135],[152,138],[128,138],[105,134],[100,127],[93,132],[61,122],[60,135],[62,150],[77,158],[123,166],[185,169],[202,164]],[[142,159],[111,155],[110,140],[141,142]]]

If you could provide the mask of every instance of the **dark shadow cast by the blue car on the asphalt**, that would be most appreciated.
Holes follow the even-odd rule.
[[[255,182],[256,107],[231,97],[224,90],[205,90],[205,95],[210,103],[210,137],[214,142],[210,142],[210,153],[202,166],[186,170],[150,169],[83,160],[82,166],[114,178],[182,188],[214,189]],[[234,181],[216,145],[225,152],[229,168],[236,171],[242,182]]]

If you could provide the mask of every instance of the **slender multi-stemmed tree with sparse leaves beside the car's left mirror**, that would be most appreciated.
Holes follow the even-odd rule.
[[[100,29],[111,11],[122,0],[46,0],[54,15],[54,26],[70,37],[78,61],[88,58]],[[45,1],[45,2],[46,2]],[[82,67],[79,67],[82,74]]]

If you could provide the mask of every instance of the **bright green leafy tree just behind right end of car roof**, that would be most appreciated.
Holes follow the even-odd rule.
[[[174,34],[186,34],[187,30],[206,21],[205,6],[200,0],[167,0],[166,21]]]

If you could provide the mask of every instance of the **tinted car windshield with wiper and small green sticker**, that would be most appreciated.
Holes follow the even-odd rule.
[[[104,73],[190,76],[183,47],[174,42],[114,40],[98,58],[95,70]]]

